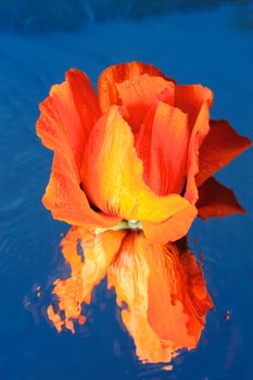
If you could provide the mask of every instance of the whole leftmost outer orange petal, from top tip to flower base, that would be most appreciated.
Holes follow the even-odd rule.
[[[99,117],[98,101],[85,74],[73,69],[66,74],[66,80],[53,86],[49,98],[40,104],[36,126],[43,144],[54,151],[43,204],[54,218],[69,224],[113,226],[118,219],[92,211],[79,187],[86,139]]]

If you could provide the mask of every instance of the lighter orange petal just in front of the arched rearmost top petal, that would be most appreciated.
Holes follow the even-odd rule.
[[[175,85],[162,77],[143,74],[115,86],[123,105],[126,106],[127,121],[134,131],[139,129],[150,106],[163,98],[164,92],[166,92],[166,101],[170,100],[169,103],[174,103]]]

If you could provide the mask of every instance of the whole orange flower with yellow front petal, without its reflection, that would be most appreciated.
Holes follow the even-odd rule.
[[[139,62],[106,68],[98,96],[71,69],[40,104],[37,134],[54,151],[45,206],[76,226],[135,220],[161,243],[185,236],[197,207],[203,218],[244,212],[211,176],[250,141],[210,121],[212,99]]]

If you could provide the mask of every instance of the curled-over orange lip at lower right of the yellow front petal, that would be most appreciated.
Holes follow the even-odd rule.
[[[189,203],[165,221],[142,221],[142,228],[150,242],[165,244],[168,241],[176,241],[186,236],[197,214],[195,206]]]

